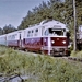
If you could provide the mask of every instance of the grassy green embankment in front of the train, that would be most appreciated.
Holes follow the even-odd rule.
[[[0,73],[30,77],[25,82],[82,82],[82,63],[0,47]]]

